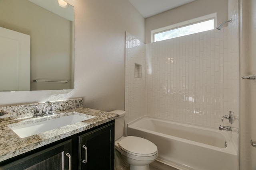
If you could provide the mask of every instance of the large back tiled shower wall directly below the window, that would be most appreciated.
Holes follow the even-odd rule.
[[[211,127],[224,115],[228,31],[146,44],[146,112]]]

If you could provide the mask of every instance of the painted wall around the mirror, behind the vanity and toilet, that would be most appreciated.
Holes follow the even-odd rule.
[[[125,31],[144,39],[144,18],[128,0],[68,0],[75,7],[74,90],[1,92],[0,105],[82,97],[84,107],[124,109]]]

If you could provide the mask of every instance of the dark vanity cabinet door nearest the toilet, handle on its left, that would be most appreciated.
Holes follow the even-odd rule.
[[[79,170],[114,170],[114,123],[79,136]]]

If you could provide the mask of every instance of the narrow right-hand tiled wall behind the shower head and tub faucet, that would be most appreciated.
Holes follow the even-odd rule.
[[[226,86],[230,86],[230,88],[226,88],[224,90],[228,91],[228,94],[224,93],[224,97],[228,100],[228,105],[224,105],[224,111],[233,111],[234,120],[232,124],[232,140],[235,143],[235,146],[238,150],[238,129],[239,129],[239,25],[238,25],[238,15],[239,15],[239,6],[238,0],[236,1],[236,5],[234,6],[234,10],[231,14],[232,22],[228,25],[228,71],[227,76],[230,77],[229,82],[225,82]],[[225,96],[226,95],[226,96]],[[230,124],[229,124],[230,125]]]

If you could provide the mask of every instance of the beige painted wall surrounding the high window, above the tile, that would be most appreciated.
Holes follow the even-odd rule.
[[[145,19],[145,43],[150,43],[150,31],[217,12],[217,24],[228,19],[228,0],[196,0]],[[184,12],[185,11],[185,12]]]

